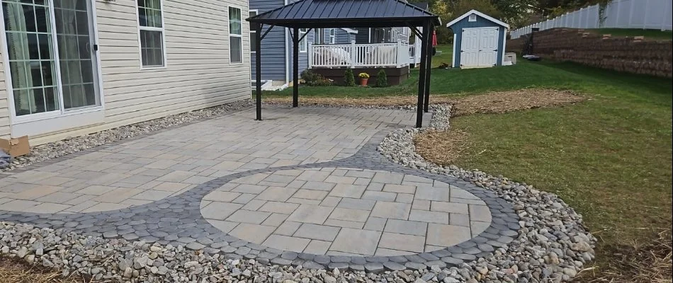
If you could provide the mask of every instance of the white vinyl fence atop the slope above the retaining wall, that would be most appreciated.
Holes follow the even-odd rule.
[[[581,8],[556,18],[512,30],[511,38],[531,33],[533,28],[643,28],[673,30],[671,0],[613,0],[599,18],[599,5]]]

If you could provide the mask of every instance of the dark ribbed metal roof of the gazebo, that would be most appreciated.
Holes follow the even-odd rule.
[[[248,18],[286,28],[387,28],[440,25],[439,17],[400,0],[300,0]]]

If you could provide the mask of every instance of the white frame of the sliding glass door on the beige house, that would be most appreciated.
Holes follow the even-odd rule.
[[[45,0],[49,2],[49,13],[50,16],[55,15],[54,1],[55,0]],[[91,5],[94,5],[93,3]],[[137,11],[137,9],[136,9]],[[93,6],[91,8],[91,33],[93,34],[94,42],[100,42],[98,40],[98,23],[96,21],[96,8]],[[137,13],[137,12],[136,12]],[[0,8],[0,18],[4,18],[4,11]],[[137,17],[136,17],[137,18]],[[101,69],[101,57],[99,53],[96,54],[96,71],[97,78],[94,78],[96,85],[94,88],[97,88],[98,101],[100,105],[91,105],[84,108],[74,108],[72,110],[67,110],[64,108],[63,104],[63,93],[62,93],[62,82],[61,82],[61,71],[60,71],[60,56],[58,51],[58,41],[56,36],[56,21],[51,21],[51,28],[54,31],[52,36],[52,44],[54,45],[54,58],[56,62],[55,66],[55,80],[57,82],[57,92],[59,100],[59,109],[49,112],[40,112],[30,115],[16,115],[16,108],[14,106],[14,90],[11,79],[11,68],[9,64],[9,45],[7,43],[6,30],[4,23],[0,24],[0,52],[1,62],[3,64],[3,71],[5,75],[5,91],[7,94],[8,110],[9,110],[9,124],[10,124],[10,135],[12,137],[20,137],[25,134],[34,135],[33,132],[44,134],[46,132],[56,132],[63,129],[69,129],[74,127],[84,127],[87,125],[94,125],[102,123],[104,120],[103,110],[105,109],[105,95],[103,93],[103,71]],[[28,133],[30,132],[30,133]]]

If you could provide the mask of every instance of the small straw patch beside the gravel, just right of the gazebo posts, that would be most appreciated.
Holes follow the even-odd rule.
[[[427,161],[441,166],[453,163],[468,149],[470,146],[467,141],[467,133],[459,129],[446,132],[426,131],[414,137],[416,152]]]

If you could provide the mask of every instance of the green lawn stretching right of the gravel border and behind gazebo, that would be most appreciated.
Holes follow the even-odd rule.
[[[451,63],[451,46],[441,47]],[[412,72],[413,76],[417,73]],[[300,88],[301,96],[412,96],[417,79],[390,88]],[[432,96],[475,95],[521,88],[571,90],[589,98],[562,108],[456,117],[470,150],[462,168],[505,175],[555,192],[584,215],[611,250],[647,241],[672,226],[672,107],[670,79],[623,74],[560,62],[489,69],[433,69]],[[288,96],[290,91],[266,93]]]

